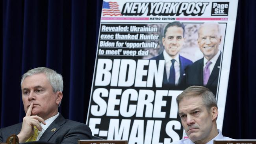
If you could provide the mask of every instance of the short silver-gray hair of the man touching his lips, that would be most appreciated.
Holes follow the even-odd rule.
[[[44,73],[46,75],[48,81],[52,85],[53,92],[57,92],[57,91],[62,92],[63,79],[61,74],[58,74],[56,71],[46,67],[38,67],[32,70],[28,70],[28,72],[22,75],[22,79],[20,81],[20,87],[27,76],[32,76],[34,74],[40,74],[40,73]]]

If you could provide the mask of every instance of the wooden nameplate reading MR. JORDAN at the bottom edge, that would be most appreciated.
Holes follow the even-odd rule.
[[[127,140],[78,140],[78,144],[128,144]]]

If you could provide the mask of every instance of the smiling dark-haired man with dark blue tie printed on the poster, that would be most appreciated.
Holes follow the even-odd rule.
[[[165,26],[162,38],[164,50],[160,55],[151,59],[165,60],[163,74],[163,85],[178,86],[184,85],[185,68],[192,64],[192,61],[182,57],[179,52],[184,44],[185,26],[181,22],[171,22]]]

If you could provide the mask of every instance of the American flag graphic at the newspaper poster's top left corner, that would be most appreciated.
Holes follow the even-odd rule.
[[[103,1],[103,6],[102,6],[102,15],[110,15],[110,16],[117,16],[117,15],[122,15],[120,10],[119,10],[119,5],[117,2],[104,2]]]

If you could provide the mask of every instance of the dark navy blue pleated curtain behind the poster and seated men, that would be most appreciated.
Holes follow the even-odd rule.
[[[63,116],[85,123],[102,0],[2,0],[0,7],[0,126],[22,121],[21,75],[39,66],[63,76]],[[238,4],[223,123],[223,135],[235,139],[256,138],[255,7]]]

